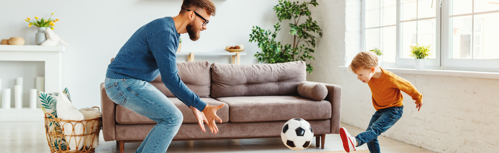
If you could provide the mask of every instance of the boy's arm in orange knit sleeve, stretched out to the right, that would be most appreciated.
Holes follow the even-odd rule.
[[[416,102],[416,108],[418,108],[418,111],[421,109],[421,106],[423,106],[423,95],[418,92],[416,87],[412,85],[411,82],[407,81],[404,78],[401,77],[395,77],[396,81],[395,86],[396,88],[400,89],[400,91],[405,92],[409,96],[412,97],[412,100],[415,100]]]

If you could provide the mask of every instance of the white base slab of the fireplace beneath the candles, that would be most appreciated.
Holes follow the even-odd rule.
[[[43,111],[41,108],[0,109],[0,122],[31,122],[43,120]]]

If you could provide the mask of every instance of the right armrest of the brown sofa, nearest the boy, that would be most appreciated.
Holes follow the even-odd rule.
[[[331,102],[331,134],[339,134],[341,126],[341,86],[322,83],[327,88],[327,101]]]

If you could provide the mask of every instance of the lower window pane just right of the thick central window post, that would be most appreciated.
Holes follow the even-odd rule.
[[[472,16],[451,17],[451,58],[471,58]]]

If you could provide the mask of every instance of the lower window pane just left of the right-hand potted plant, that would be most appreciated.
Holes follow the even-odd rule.
[[[402,58],[414,58],[410,57],[411,49],[410,45],[416,45],[417,43],[417,29],[416,21],[402,22]]]

